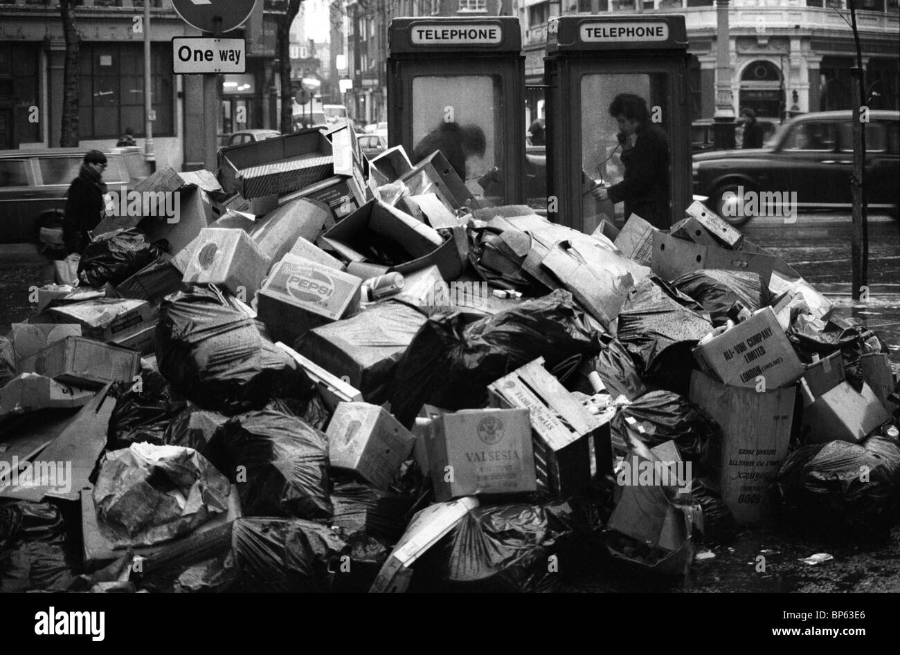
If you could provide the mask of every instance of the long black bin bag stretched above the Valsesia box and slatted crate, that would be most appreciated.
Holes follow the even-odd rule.
[[[572,294],[555,291],[473,323],[461,312],[428,319],[403,353],[391,386],[397,420],[410,427],[423,404],[480,408],[487,387],[543,356],[550,370],[572,355],[599,352],[599,342]]]

